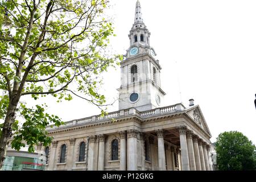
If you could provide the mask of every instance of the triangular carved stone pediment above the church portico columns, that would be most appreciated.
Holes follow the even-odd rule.
[[[201,127],[201,129],[212,136],[199,105],[188,108],[186,113]]]

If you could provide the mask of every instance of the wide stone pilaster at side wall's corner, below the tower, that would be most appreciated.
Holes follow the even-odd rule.
[[[137,130],[127,132],[127,168],[129,171],[137,171]]]

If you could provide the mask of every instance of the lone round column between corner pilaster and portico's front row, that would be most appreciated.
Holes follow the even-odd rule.
[[[164,152],[163,130],[155,131],[158,135],[158,166],[159,171],[166,171],[166,155]]]

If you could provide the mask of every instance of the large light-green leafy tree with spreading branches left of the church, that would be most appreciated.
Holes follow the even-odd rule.
[[[98,107],[105,104],[98,92],[99,74],[121,59],[106,49],[114,35],[111,21],[104,18],[108,7],[108,0],[2,0],[0,168],[11,137],[15,150],[26,142],[32,152],[35,144],[51,143],[49,123],[62,123],[46,113],[46,104],[28,107],[28,96],[69,101],[75,95]],[[9,27],[3,26],[5,19]],[[16,116],[24,119],[22,125]]]

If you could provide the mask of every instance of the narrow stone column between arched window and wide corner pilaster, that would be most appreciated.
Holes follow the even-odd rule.
[[[126,171],[126,131],[119,132],[120,135],[120,170]]]

